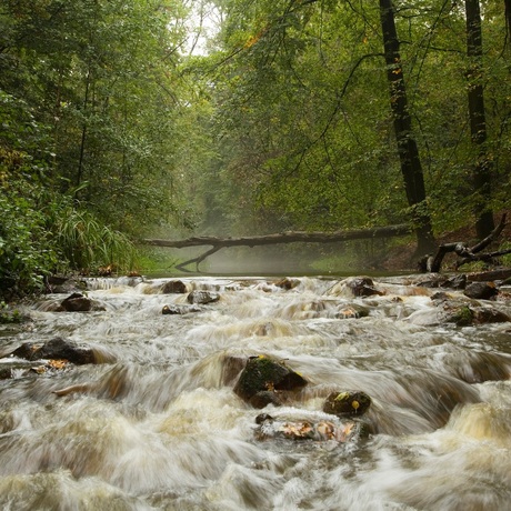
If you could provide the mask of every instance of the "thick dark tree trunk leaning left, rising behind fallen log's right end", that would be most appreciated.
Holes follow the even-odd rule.
[[[380,19],[401,173],[404,180],[408,204],[412,210],[412,221],[415,226],[417,252],[418,255],[423,255],[434,250],[435,242],[425,201],[424,176],[419,149],[413,138],[412,119],[408,109],[392,0],[380,0]]]

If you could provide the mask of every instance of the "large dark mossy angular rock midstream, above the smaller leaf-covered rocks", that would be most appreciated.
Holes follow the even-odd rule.
[[[267,357],[252,357],[234,385],[234,393],[243,401],[263,408],[270,402],[280,402],[280,397],[270,397],[263,392],[274,394],[275,391],[294,391],[307,385],[307,380],[288,368],[283,362]],[[261,394],[262,392],[262,394]],[[257,398],[254,398],[259,394]],[[252,398],[253,403],[252,403]]]

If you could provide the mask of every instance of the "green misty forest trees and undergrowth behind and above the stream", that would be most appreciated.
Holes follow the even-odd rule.
[[[511,197],[508,1],[6,0],[0,281],[140,238],[411,223]]]

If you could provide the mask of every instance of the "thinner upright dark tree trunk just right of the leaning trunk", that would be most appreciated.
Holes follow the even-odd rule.
[[[479,0],[465,0],[467,13],[467,56],[469,57],[469,116],[470,136],[472,142],[479,148],[478,161],[472,171],[473,188],[475,192],[475,232],[479,239],[490,234],[495,228],[493,213],[488,204],[491,201],[491,173],[492,163],[485,150],[487,121],[484,114],[484,97],[482,84],[482,33],[481,11]]]

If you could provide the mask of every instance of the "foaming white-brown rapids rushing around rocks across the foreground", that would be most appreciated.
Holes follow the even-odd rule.
[[[0,381],[2,510],[511,509],[510,322],[434,321],[433,291],[404,278],[369,298],[320,278],[183,281],[220,300],[163,315],[187,303],[163,279],[89,280],[103,311],[49,312],[63,297],[48,295],[3,333],[3,349],[60,335],[104,363]],[[362,390],[373,433],[258,439],[261,411],[226,379],[229,358],[255,354],[309,381],[264,412],[320,420],[329,392]]]

